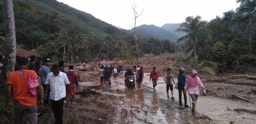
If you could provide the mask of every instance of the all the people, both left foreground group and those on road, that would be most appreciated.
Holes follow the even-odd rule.
[[[1,57],[3,58],[3,57]],[[14,101],[15,108],[15,123],[22,123],[25,117],[26,123],[37,123],[37,111],[38,107],[42,105],[50,106],[54,112],[55,123],[63,123],[63,107],[73,107],[73,100],[75,94],[75,88],[78,89],[81,86],[80,73],[74,72],[74,66],[70,65],[68,71],[64,70],[64,61],[59,61],[58,64],[53,64],[50,68],[50,59],[46,58],[43,61],[43,66],[37,63],[36,57],[29,57],[29,62],[26,57],[18,58],[16,71],[11,72],[7,76],[7,92],[6,92],[6,112],[10,112],[9,101]],[[111,86],[111,75],[114,73],[114,78],[118,76],[118,73],[122,75],[123,65],[118,63],[107,64],[102,61],[99,64],[100,70],[100,85]],[[133,69],[135,74],[133,73]],[[179,70],[177,79],[177,89],[179,94],[179,104],[182,104],[182,93],[184,96],[184,107],[187,105],[186,90],[188,90],[189,96],[192,99],[192,110],[195,112],[196,101],[199,96],[198,86],[204,88],[200,78],[197,76],[197,72],[193,70],[191,75],[186,80],[185,69],[182,67]],[[141,83],[144,78],[143,67],[137,65],[132,68],[126,69],[124,74],[125,89],[135,89],[136,85],[141,88]],[[133,79],[133,78],[136,78]],[[40,79],[40,81],[39,81]],[[131,80],[133,79],[133,80]],[[171,91],[171,99],[174,98],[173,85],[175,85],[174,75],[171,73],[171,69],[167,69],[167,73],[164,75],[164,82],[166,83],[167,97],[169,96],[169,90]],[[156,67],[150,72],[149,81],[153,84],[153,90],[156,92],[157,81],[159,81],[159,74],[156,71]],[[44,95],[42,95],[41,87],[43,87]],[[43,96],[43,97],[42,97]],[[64,105],[64,101],[67,101],[67,105]]]

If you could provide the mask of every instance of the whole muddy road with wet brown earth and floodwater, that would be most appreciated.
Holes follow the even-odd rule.
[[[192,114],[190,108],[178,105],[177,89],[174,89],[175,100],[167,98],[162,77],[156,86],[157,91],[153,92],[148,74],[144,73],[142,88],[136,87],[135,90],[124,90],[121,74],[111,78],[111,87],[99,88],[96,81],[82,82],[83,89],[76,90],[74,107],[64,108],[64,123],[256,123],[255,113],[234,111],[237,108],[256,110],[255,104],[213,96],[200,95],[197,113]],[[189,99],[187,102],[189,105]],[[47,123],[54,123],[52,113]]]

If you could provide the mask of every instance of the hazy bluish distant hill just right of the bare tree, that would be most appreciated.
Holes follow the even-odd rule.
[[[129,32],[131,31],[133,31],[133,29],[129,30]],[[171,42],[176,42],[178,39],[178,36],[173,32],[164,30],[163,28],[157,27],[155,25],[140,25],[136,27],[136,34],[146,38],[155,37],[160,40],[169,39]]]

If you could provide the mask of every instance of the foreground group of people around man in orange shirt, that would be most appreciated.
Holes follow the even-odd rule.
[[[75,88],[81,86],[80,73],[74,72],[73,65],[65,71],[62,60],[51,68],[49,58],[44,59],[42,67],[37,64],[35,56],[16,60],[17,70],[7,76],[6,112],[10,112],[9,101],[12,96],[15,124],[23,123],[23,118],[28,124],[36,124],[38,108],[43,105],[52,108],[55,124],[62,124],[63,107],[73,107]],[[65,99],[67,105],[64,105]]]

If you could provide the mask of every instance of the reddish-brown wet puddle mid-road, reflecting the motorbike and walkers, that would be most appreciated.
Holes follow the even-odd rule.
[[[146,85],[135,90],[124,90],[124,78],[121,76],[111,79],[109,90],[100,89],[103,90],[101,94],[116,96],[115,102],[119,105],[114,123],[212,123],[210,118],[191,114],[189,108],[180,107],[174,100],[166,99],[166,94],[153,92]]]

